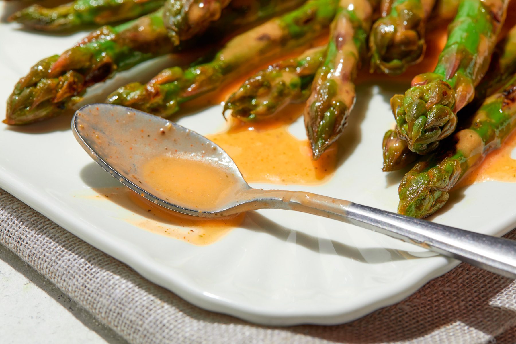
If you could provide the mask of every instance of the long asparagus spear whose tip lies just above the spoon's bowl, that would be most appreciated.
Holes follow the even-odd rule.
[[[310,42],[329,26],[335,15],[336,2],[309,0],[292,12],[236,36],[212,61],[187,69],[166,69],[147,85],[126,85],[112,93],[108,103],[168,117],[181,103],[216,89],[231,75],[248,71],[265,58],[275,58]]]

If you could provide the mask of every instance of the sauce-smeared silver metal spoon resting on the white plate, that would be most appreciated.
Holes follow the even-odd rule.
[[[100,166],[144,198],[165,208],[207,218],[265,208],[308,212],[367,228],[516,279],[516,242],[512,240],[308,192],[253,189],[244,181],[231,157],[215,143],[152,114],[117,105],[91,104],[75,113],[72,129],[77,141]],[[206,161],[220,163],[241,184],[235,188],[238,192],[215,208],[193,209],[178,205],[170,195],[142,182],[138,177],[142,163],[172,149],[190,155],[202,153]]]

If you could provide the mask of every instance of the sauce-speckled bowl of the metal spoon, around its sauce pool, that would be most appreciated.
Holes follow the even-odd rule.
[[[232,215],[248,200],[251,190],[233,159],[218,145],[179,124],[147,112],[111,104],[90,104],[76,111],[72,129],[77,141],[112,176],[144,198],[165,208],[192,216]],[[142,177],[141,167],[166,154],[203,162],[229,174],[234,195],[207,208],[194,208],[171,200]],[[201,183],[203,181],[200,181]]]

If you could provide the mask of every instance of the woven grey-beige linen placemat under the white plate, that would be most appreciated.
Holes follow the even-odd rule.
[[[516,343],[516,281],[467,264],[351,323],[267,327],[183,301],[2,189],[0,243],[133,343]]]

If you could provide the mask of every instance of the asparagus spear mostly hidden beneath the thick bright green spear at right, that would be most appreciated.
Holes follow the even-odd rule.
[[[496,44],[489,69],[475,89],[475,100],[463,111],[475,112],[486,96],[493,94],[503,86],[514,73],[516,73],[516,26]],[[416,158],[417,153],[409,150],[407,141],[399,138],[396,131],[388,130],[385,133],[383,138],[383,171],[399,170]]]

